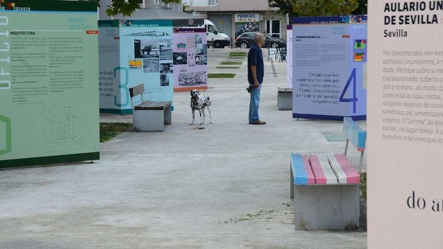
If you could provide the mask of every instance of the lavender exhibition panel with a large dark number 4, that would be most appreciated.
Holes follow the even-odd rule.
[[[293,118],[366,119],[367,17],[294,18]]]

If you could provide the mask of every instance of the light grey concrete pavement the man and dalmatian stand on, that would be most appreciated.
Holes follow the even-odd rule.
[[[272,74],[266,62],[267,124],[248,125],[246,60],[227,59],[230,48],[208,51],[209,72],[237,73],[209,80],[213,124],[192,129],[190,95],[175,93],[165,132],[123,133],[101,144],[96,163],[0,171],[0,248],[366,248],[362,231],[294,231],[289,154],[343,152],[344,142],[323,135],[342,123],[278,111],[286,65]],[[226,60],[244,62],[215,69]],[[358,155],[350,151],[351,161]]]

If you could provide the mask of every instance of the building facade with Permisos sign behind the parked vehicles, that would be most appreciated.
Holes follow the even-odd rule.
[[[213,22],[235,40],[248,31],[286,39],[287,18],[269,8],[268,0],[183,0],[187,12]]]

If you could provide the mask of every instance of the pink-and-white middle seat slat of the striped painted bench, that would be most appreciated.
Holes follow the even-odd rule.
[[[317,184],[337,184],[337,177],[326,155],[310,155],[309,161]]]

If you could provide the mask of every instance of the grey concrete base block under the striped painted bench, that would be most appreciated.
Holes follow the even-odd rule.
[[[296,230],[359,227],[358,185],[293,185]]]

